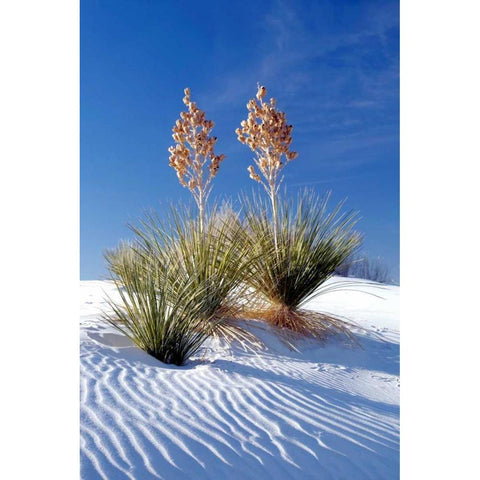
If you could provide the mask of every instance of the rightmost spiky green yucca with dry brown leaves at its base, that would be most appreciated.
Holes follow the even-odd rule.
[[[303,308],[360,244],[353,230],[356,214],[342,213],[342,203],[328,212],[328,200],[329,195],[320,199],[305,192],[296,203],[279,202],[277,231],[265,201],[245,201],[242,243],[250,258],[246,281],[254,292],[246,316],[285,332],[322,338],[342,332],[352,338],[346,322]]]

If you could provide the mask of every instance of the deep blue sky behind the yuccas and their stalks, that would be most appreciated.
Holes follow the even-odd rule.
[[[257,188],[234,130],[260,82],[293,124],[289,194],[332,190],[358,210],[363,251],[399,277],[397,1],[80,3],[81,278],[150,208],[189,201],[168,166],[183,89],[227,158],[211,200]]]

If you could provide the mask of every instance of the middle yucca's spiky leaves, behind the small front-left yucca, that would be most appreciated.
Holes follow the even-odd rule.
[[[154,212],[146,214],[136,225],[130,225],[136,236],[137,255],[153,269],[158,262],[176,259],[168,270],[176,295],[184,288],[178,278],[188,279],[195,288],[211,288],[209,310],[202,314],[205,322],[214,323],[210,334],[238,340],[248,348],[258,347],[258,339],[238,321],[251,271],[247,245],[236,241],[243,226],[233,214],[217,214],[215,207],[206,218],[200,230],[195,213],[183,206],[172,207],[164,218]]]

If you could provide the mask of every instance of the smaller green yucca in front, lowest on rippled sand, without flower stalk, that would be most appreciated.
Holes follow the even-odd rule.
[[[216,302],[215,284],[185,276],[172,281],[175,261],[146,259],[134,246],[111,252],[109,263],[120,301],[108,299],[104,320],[156,359],[184,365],[215,329],[215,320],[205,321]]]

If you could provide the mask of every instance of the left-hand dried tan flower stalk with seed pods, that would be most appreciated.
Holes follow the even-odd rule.
[[[186,112],[180,113],[172,131],[175,145],[171,146],[169,165],[177,172],[180,184],[192,192],[198,206],[200,231],[205,224],[205,207],[212,189],[212,179],[216,176],[225,155],[214,152],[217,137],[210,133],[214,127],[211,120],[205,118],[205,112],[197,107],[190,98],[190,89],[184,90],[183,103]]]

